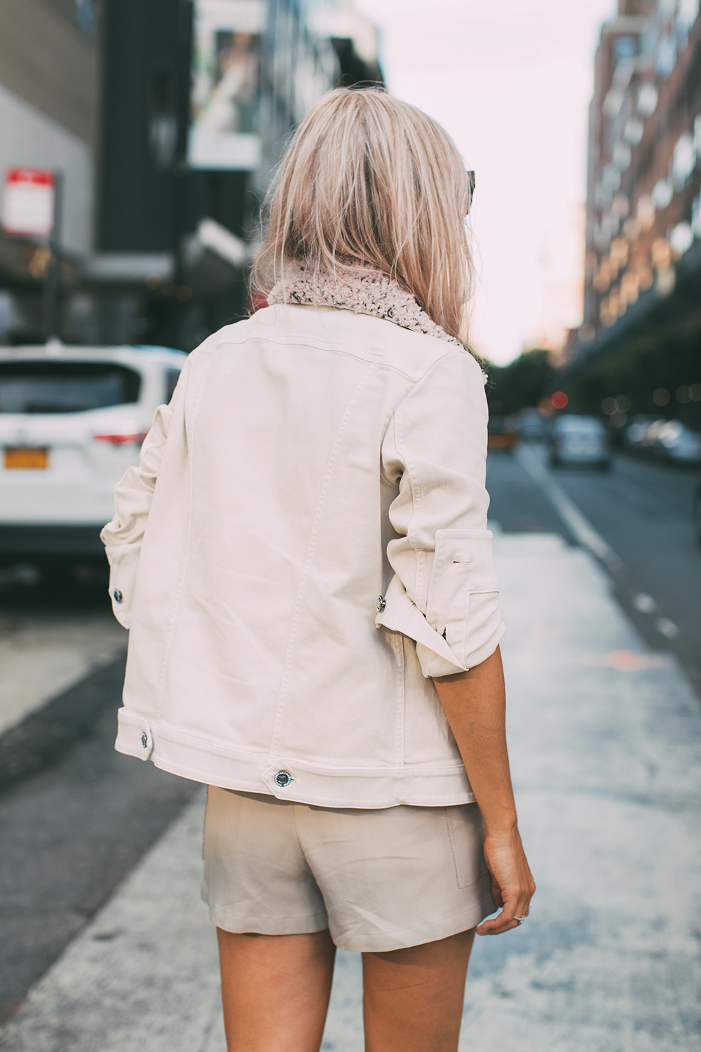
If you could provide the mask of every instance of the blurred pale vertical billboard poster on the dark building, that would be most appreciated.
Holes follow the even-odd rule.
[[[188,161],[193,168],[253,170],[265,0],[197,0]]]

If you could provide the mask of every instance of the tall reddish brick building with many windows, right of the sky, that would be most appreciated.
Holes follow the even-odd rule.
[[[619,0],[596,55],[583,324],[571,341],[574,360],[616,352],[678,319],[697,324],[699,161],[699,0]]]

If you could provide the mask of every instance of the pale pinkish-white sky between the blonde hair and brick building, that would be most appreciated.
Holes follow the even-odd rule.
[[[581,322],[587,107],[615,0],[356,0],[389,89],[476,171],[470,338],[506,364]]]

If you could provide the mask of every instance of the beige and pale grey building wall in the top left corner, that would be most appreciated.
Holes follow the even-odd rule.
[[[64,177],[62,278],[92,247],[99,43],[88,0],[5,0],[0,11],[0,177],[19,166]],[[0,341],[36,338],[46,246],[0,231]]]

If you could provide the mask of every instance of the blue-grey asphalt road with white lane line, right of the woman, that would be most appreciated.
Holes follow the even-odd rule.
[[[544,448],[529,448],[545,462]],[[692,524],[697,473],[619,453],[609,472],[549,474],[618,555],[612,586],[625,612],[651,647],[677,654],[701,696],[701,548]],[[490,454],[487,484],[490,519],[504,532],[557,532],[576,543],[516,456]]]

